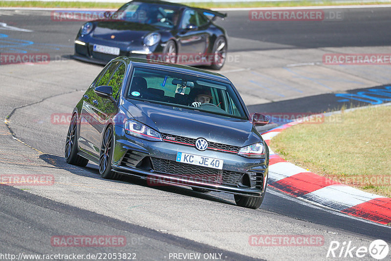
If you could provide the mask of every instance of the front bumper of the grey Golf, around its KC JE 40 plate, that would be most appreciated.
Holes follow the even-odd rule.
[[[223,159],[223,169],[178,163],[176,152]],[[167,163],[166,168],[156,165],[162,161]],[[268,154],[264,159],[249,159],[234,153],[201,152],[190,146],[133,137],[121,126],[115,126],[113,171],[146,179],[150,185],[176,184],[242,196],[262,196],[267,183],[267,163]],[[198,173],[200,171],[202,174]]]

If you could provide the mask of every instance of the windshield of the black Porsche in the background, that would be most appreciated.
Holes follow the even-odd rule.
[[[179,9],[176,6],[146,2],[129,2],[119,8],[112,16],[129,22],[147,23],[174,28],[178,22]]]

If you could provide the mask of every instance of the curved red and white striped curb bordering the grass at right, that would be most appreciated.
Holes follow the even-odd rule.
[[[300,121],[291,122],[262,133],[267,145],[281,131]],[[367,193],[298,167],[270,148],[268,186],[293,197],[310,201],[350,216],[380,224],[391,223],[391,198]]]

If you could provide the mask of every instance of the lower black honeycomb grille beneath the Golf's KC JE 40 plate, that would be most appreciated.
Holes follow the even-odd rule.
[[[156,172],[209,184],[223,184],[236,187],[241,177],[243,176],[243,173],[239,172],[217,170],[176,162],[173,160],[153,157],[151,157],[151,160],[153,170]]]

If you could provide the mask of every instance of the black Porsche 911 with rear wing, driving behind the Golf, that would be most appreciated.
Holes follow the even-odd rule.
[[[75,40],[75,58],[99,64],[125,55],[220,69],[227,33],[213,23],[225,14],[158,0],[134,0],[103,20],[86,22]]]

